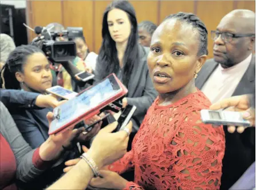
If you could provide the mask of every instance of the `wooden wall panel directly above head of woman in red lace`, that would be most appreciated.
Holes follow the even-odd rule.
[[[160,1],[160,23],[170,14],[194,13],[195,1]]]

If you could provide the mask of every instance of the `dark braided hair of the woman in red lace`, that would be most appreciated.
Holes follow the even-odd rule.
[[[172,18],[179,19],[180,21],[185,21],[185,22],[191,24],[196,30],[198,30],[198,33],[200,35],[200,37],[199,37],[200,47],[198,50],[198,56],[208,55],[208,50],[207,50],[208,31],[206,29],[206,25],[204,25],[204,23],[200,20],[200,18],[198,18],[195,14],[192,14],[192,13],[179,12],[176,14],[170,14],[168,17],[166,17],[164,19],[164,21],[166,21],[167,19],[172,19]]]

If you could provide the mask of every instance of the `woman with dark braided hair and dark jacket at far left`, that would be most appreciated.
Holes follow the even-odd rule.
[[[26,92],[47,94],[46,89],[52,87],[50,64],[42,50],[33,45],[19,46],[11,52],[2,72],[3,86],[6,89],[22,89]],[[11,109],[11,116],[31,148],[40,147],[49,138],[49,123],[46,115],[52,111],[52,108],[34,109],[21,106]],[[98,120],[99,116],[86,121],[86,124],[91,124],[94,119]],[[81,141],[88,141],[99,132],[99,129],[100,125],[96,125],[90,133],[81,134],[78,137]],[[72,151],[66,152],[66,155],[61,157],[62,161],[52,170],[44,173],[44,177],[38,179],[34,185],[38,187],[40,184],[44,188],[45,185],[52,183],[62,174],[65,160],[74,159],[80,155],[76,144],[65,148],[72,148]]]

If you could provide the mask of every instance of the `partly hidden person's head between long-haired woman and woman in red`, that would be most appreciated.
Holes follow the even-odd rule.
[[[139,29],[139,43],[145,47],[149,47],[151,37],[156,30],[156,25],[151,21],[142,21],[138,25]]]

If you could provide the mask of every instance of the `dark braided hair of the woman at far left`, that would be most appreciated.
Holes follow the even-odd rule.
[[[41,49],[34,45],[22,45],[16,47],[13,52],[10,53],[6,64],[1,70],[1,83],[5,83],[5,89],[21,89],[19,81],[15,77],[15,73],[23,73],[23,65],[26,64],[27,57],[38,52],[43,53]]]

